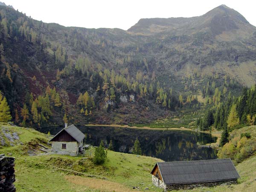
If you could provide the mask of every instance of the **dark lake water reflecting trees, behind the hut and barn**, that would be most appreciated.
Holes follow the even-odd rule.
[[[103,140],[106,147],[112,140],[114,151],[131,153],[138,137],[143,155],[165,161],[215,159],[216,150],[206,143],[215,143],[216,137],[193,131],[141,130],[113,127],[78,127],[85,135],[85,143],[98,146]],[[56,134],[61,128],[39,130]]]

